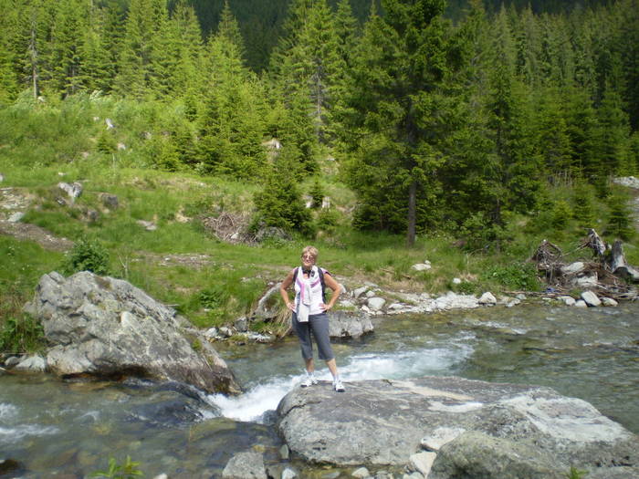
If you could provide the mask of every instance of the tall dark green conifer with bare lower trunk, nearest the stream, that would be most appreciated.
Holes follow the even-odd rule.
[[[417,224],[424,219],[418,212],[434,198],[446,141],[458,126],[457,99],[445,94],[455,81],[444,6],[438,0],[382,1],[385,16],[369,19],[352,68],[346,109],[351,128],[345,130],[351,141],[360,141],[349,181],[361,212],[379,212],[382,203],[399,212],[399,221],[394,213],[377,217],[384,228],[403,224],[408,245],[414,245]]]

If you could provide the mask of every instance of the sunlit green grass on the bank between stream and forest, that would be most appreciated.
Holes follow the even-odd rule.
[[[298,264],[299,252],[309,243],[319,248],[319,265],[347,288],[370,281],[389,291],[431,294],[534,288],[529,275],[521,273],[522,265],[545,238],[570,253],[568,258],[583,255],[577,245],[585,230],[574,218],[558,217],[570,203],[565,187],[550,190],[537,220],[508,218],[508,241],[499,253],[466,252],[446,234],[420,235],[413,248],[406,248],[400,235],[353,231],[348,212],[355,197],[340,182],[336,161],[325,159],[329,151],[322,151],[319,161],[326,173],[321,187],[337,212],[329,230],[313,241],[222,243],[204,232],[201,218],[250,213],[253,194],[261,186],[150,168],[152,139],[171,130],[178,114],[166,105],[112,98],[77,96],[46,106],[25,98],[0,110],[0,172],[3,188],[31,198],[23,222],[73,241],[100,241],[109,253],[113,276],[174,305],[200,328],[246,315],[269,286]],[[106,129],[107,118],[115,129]],[[124,149],[117,148],[119,143]],[[69,202],[58,182],[81,182],[84,191],[74,204],[60,204],[60,198]],[[300,191],[309,193],[312,183],[303,182]],[[117,195],[118,207],[107,209],[103,193]],[[609,206],[594,201],[593,208],[599,218],[594,227],[603,230]],[[89,220],[90,212],[97,212],[97,218]],[[146,231],[138,224],[141,220],[157,229]],[[624,243],[624,252],[631,264],[639,264],[639,250],[632,242]],[[411,268],[425,260],[432,269]],[[0,300],[11,305],[0,309],[0,323],[19,316],[39,276],[60,271],[65,261],[64,255],[34,243],[0,236]],[[453,284],[455,277],[462,279],[460,285]]]

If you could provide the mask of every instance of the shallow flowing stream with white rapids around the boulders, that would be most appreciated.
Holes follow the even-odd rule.
[[[267,463],[277,461],[282,442],[272,411],[302,378],[297,341],[216,347],[244,395],[144,380],[0,378],[0,460],[20,464],[0,477],[83,477],[127,455],[146,477],[219,477],[234,453],[255,444]],[[374,334],[333,348],[347,388],[348,381],[424,375],[538,384],[589,401],[639,433],[639,304],[379,318]],[[321,366],[319,379],[329,380]]]

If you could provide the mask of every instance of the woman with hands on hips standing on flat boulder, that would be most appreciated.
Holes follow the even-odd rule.
[[[306,379],[302,381],[302,387],[306,388],[317,384],[315,379],[315,363],[313,362],[313,344],[310,333],[313,333],[315,343],[318,346],[319,359],[324,359],[333,375],[333,389],[343,392],[344,386],[340,380],[340,374],[335,364],[335,355],[330,347],[329,317],[326,312],[335,305],[340,297],[341,286],[333,276],[325,269],[315,265],[318,259],[318,250],[313,246],[307,246],[302,251],[302,264],[293,269],[279,286],[279,293],[288,309],[293,311],[293,329],[298,335],[302,350],[302,358],[306,364]],[[288,286],[295,286],[295,301],[288,297]],[[329,286],[333,293],[326,304],[324,297],[324,285]]]

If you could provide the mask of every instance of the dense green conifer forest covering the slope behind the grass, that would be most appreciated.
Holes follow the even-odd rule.
[[[264,184],[267,224],[307,228],[296,182],[327,151],[357,195],[354,226],[409,245],[436,230],[498,245],[518,214],[548,224],[573,210],[587,224],[594,198],[618,203],[609,179],[639,170],[636,0],[0,0],[0,11],[0,108],[166,105],[171,115],[147,119],[162,132],[149,166]],[[115,134],[96,139],[99,153],[116,150]],[[551,199],[557,185],[571,198]]]

